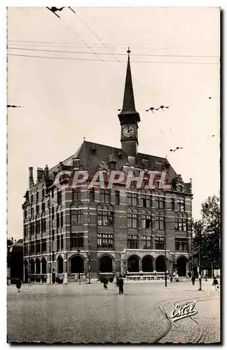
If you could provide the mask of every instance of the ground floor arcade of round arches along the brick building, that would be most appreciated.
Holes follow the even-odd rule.
[[[100,279],[102,276],[114,278],[118,274],[132,278],[154,279],[177,272],[179,276],[187,276],[191,271],[188,254],[172,254],[170,251],[125,249],[120,254],[114,251],[97,251],[89,257],[88,252],[69,252],[51,255],[25,257],[24,281],[54,283],[56,278],[63,283]]]

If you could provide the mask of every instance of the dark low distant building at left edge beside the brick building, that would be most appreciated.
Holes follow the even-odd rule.
[[[23,239],[7,239],[7,279],[23,279]]]

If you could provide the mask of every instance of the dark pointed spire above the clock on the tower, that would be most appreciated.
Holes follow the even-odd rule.
[[[121,114],[128,114],[128,113],[137,113],[135,109],[135,100],[134,100],[134,93],[133,93],[133,87],[132,87],[132,74],[131,74],[131,67],[130,67],[130,48],[128,48],[128,65],[127,65],[127,71],[126,71],[126,78],[125,78],[125,93],[124,93],[124,99],[123,99],[123,107],[121,110]]]

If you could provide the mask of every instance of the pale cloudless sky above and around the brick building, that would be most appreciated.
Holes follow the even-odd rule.
[[[57,18],[8,8],[8,104],[21,106],[8,109],[8,237],[22,237],[29,167],[36,179],[83,137],[121,147],[128,45],[139,152],[167,156],[192,179],[200,218],[201,203],[219,195],[219,8],[73,9]],[[161,105],[169,109],[146,112]]]

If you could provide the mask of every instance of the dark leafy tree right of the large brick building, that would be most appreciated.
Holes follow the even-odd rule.
[[[221,266],[220,198],[214,195],[202,203],[202,218],[193,222],[193,250],[199,251],[201,240],[202,267]],[[200,236],[201,232],[201,236]]]

